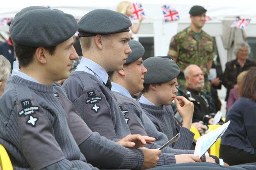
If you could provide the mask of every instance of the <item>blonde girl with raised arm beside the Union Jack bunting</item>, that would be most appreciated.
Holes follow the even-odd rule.
[[[128,17],[132,16],[134,13],[134,9],[132,7],[132,3],[130,1],[122,1],[117,5],[117,12],[127,15]],[[132,24],[130,27],[130,35],[132,38],[132,33],[137,33],[139,31],[139,27],[141,26],[141,21],[143,20],[143,16],[138,20],[136,25]]]

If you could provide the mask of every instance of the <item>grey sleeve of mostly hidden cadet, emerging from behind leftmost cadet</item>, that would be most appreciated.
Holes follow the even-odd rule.
[[[68,115],[70,131],[88,163],[104,169],[141,169],[144,163],[141,150],[122,147],[100,136],[98,132],[91,132],[87,124],[78,116],[79,113],[67,98],[65,90],[58,83],[53,85],[56,92],[54,95]]]

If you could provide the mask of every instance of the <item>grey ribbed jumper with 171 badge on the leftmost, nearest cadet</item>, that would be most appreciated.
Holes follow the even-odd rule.
[[[53,86],[11,76],[0,106],[0,143],[15,170],[97,170],[72,137]]]

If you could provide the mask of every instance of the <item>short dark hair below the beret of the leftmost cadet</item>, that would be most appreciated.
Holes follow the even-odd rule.
[[[14,46],[15,54],[19,59],[19,66],[21,67],[28,66],[32,62],[35,51],[38,48],[38,47],[17,45],[14,43],[13,43],[13,46]],[[50,53],[50,55],[54,55],[56,46],[45,47],[45,49]]]

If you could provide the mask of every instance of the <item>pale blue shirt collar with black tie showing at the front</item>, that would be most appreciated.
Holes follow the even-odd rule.
[[[82,57],[80,64],[76,67],[76,71],[85,71],[90,73],[101,80],[104,84],[108,81],[108,73],[106,70],[96,62],[85,57]]]

